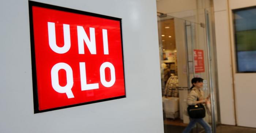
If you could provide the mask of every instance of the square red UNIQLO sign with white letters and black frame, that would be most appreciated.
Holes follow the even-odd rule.
[[[34,112],[125,97],[121,19],[29,1]]]

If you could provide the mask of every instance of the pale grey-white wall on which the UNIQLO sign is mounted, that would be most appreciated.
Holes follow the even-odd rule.
[[[0,132],[163,133],[155,0],[37,1],[123,19],[127,98],[34,114],[28,1],[1,1]]]

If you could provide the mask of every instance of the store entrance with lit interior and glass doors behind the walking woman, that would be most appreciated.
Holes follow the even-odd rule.
[[[187,95],[193,77],[204,79],[204,97],[211,95],[211,112],[204,118],[215,131],[217,106],[214,52],[205,10],[205,23],[195,23],[168,15],[158,16],[159,54],[162,81],[163,121],[165,133],[181,133],[189,123]],[[203,132],[197,124],[193,133]]]

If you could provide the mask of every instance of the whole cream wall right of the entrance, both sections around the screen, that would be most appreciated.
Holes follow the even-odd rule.
[[[222,124],[256,128],[256,106],[253,105],[256,101],[256,74],[236,73],[232,18],[232,9],[255,5],[255,0],[214,0]]]

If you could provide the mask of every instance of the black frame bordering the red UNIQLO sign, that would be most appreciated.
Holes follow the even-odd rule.
[[[122,19],[121,18],[112,17],[112,16],[105,16],[105,15],[100,15],[100,14],[96,14],[96,13],[80,11],[80,10],[65,8],[65,7],[59,7],[59,6],[56,6],[56,5],[44,4],[44,3],[39,3],[39,2],[29,0],[29,22],[30,22],[30,44],[31,44],[31,64],[32,64],[32,79],[33,79],[34,114],[42,113],[42,112],[48,112],[48,111],[52,111],[52,110],[64,109],[64,108],[68,108],[68,107],[87,105],[87,104],[91,104],[91,103],[109,101],[109,100],[113,100],[113,99],[126,98],[125,71],[124,71],[124,91],[125,91],[125,95],[123,95],[123,96],[101,99],[101,100],[91,101],[91,102],[78,103],[78,104],[62,106],[62,107],[56,107],[56,108],[52,108],[52,109],[39,110],[38,109],[38,107],[39,107],[38,92],[37,92],[37,73],[36,73],[36,66],[35,66],[34,25],[33,25],[33,11],[32,11],[33,6],[120,21],[121,47],[122,47],[122,56],[123,56],[122,57],[123,58],[123,71],[124,71],[124,51],[123,51],[123,35],[122,35],[122,23],[121,23]]]

